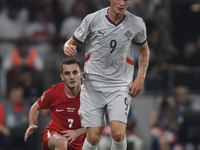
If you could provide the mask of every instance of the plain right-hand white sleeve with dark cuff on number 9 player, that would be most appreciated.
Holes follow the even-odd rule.
[[[146,25],[141,18],[140,18],[139,22],[140,22],[139,23],[139,25],[140,25],[139,31],[133,39],[133,42],[136,45],[142,45],[147,40]]]

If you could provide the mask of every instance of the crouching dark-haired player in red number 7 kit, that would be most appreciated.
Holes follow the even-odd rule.
[[[60,65],[63,82],[53,85],[31,107],[29,128],[25,141],[37,128],[41,109],[50,109],[52,120],[41,134],[44,150],[81,150],[86,128],[81,127],[79,115],[81,78],[83,73],[77,59],[64,59]]]

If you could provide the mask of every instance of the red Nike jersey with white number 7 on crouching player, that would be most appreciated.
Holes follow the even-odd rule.
[[[81,128],[81,119],[78,113],[80,108],[80,92],[75,98],[69,98],[65,93],[65,83],[53,85],[39,98],[38,104],[43,109],[49,109],[51,121],[45,128],[57,133],[66,130]],[[60,133],[61,134],[61,133]],[[83,145],[85,135],[79,136],[70,145]]]

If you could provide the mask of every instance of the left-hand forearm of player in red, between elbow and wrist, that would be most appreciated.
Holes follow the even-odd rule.
[[[38,105],[38,102],[35,102],[32,105],[31,109],[30,109],[30,113],[29,113],[29,126],[37,124],[39,113],[40,113],[40,107]]]

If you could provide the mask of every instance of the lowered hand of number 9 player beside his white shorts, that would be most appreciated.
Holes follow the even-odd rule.
[[[138,94],[140,94],[140,92],[143,89],[143,84],[144,84],[144,78],[142,77],[137,77],[131,87],[131,91],[130,91],[130,95],[132,97],[137,96]]]

